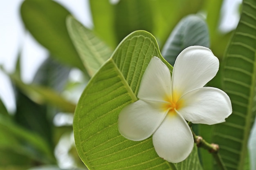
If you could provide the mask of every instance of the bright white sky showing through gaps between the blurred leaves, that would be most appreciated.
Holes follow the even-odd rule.
[[[55,0],[66,7],[85,26],[92,27],[88,0]],[[113,0],[115,1],[115,0]],[[242,0],[225,0],[222,8],[224,17],[220,24],[222,31],[236,27],[239,16],[236,13]],[[40,44],[22,25],[19,8],[23,0],[0,0],[0,65],[7,72],[15,68],[18,51],[21,49],[21,71],[24,82],[31,82],[36,69],[48,55]],[[19,49],[20,48],[20,49]],[[14,95],[7,76],[0,71],[0,98],[10,112],[15,110]]]

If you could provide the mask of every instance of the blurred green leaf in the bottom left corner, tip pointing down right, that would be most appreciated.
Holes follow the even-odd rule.
[[[12,153],[30,157],[41,163],[55,162],[52,150],[42,137],[25,130],[3,115],[0,115],[0,131],[0,150],[9,149]]]

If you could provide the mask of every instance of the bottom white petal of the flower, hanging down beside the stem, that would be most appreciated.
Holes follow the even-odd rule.
[[[177,113],[168,114],[153,134],[155,151],[168,162],[181,162],[193,149],[194,139],[186,121]]]

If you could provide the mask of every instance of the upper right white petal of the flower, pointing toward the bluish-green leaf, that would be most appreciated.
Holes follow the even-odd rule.
[[[183,95],[203,87],[218,72],[219,60],[210,49],[190,46],[177,57],[173,67],[173,91]]]

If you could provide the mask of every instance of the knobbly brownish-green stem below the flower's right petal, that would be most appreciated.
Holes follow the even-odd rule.
[[[189,124],[189,126],[191,126],[191,124]],[[217,165],[220,167],[220,170],[227,170],[227,168],[225,167],[225,165],[220,157],[220,154],[218,153],[218,151],[220,149],[219,146],[217,144],[209,144],[202,137],[195,135],[192,128],[191,128],[191,131],[192,131],[194,141],[197,144],[197,146],[208,150],[213,155],[213,158],[215,159]]]

